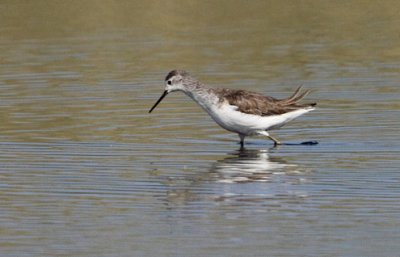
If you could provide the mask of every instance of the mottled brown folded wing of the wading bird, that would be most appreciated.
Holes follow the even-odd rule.
[[[269,116],[315,106],[316,103],[297,104],[299,100],[310,92],[306,90],[300,93],[300,89],[301,87],[299,87],[292,96],[285,99],[276,99],[271,96],[264,96],[245,90],[216,89],[216,91],[223,96],[221,99],[225,99],[229,104],[237,106],[240,112]]]

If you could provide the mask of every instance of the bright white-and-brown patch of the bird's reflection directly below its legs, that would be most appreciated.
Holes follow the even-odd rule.
[[[268,182],[273,175],[298,173],[298,166],[270,157],[268,150],[240,149],[214,163],[212,176],[222,183]]]

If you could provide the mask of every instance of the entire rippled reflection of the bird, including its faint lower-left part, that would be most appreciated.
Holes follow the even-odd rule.
[[[270,156],[271,150],[241,149],[228,153],[227,157],[214,162],[208,172],[186,174],[180,186],[168,191],[167,202],[187,203],[213,199],[216,202],[264,202],[271,199],[294,201],[307,193],[296,185],[307,182],[304,167],[290,164],[282,157]],[[187,182],[183,183],[183,182]],[[214,183],[217,182],[217,183]],[[225,184],[221,186],[221,184]],[[206,192],[206,194],[205,194]],[[210,198],[211,197],[211,198]]]

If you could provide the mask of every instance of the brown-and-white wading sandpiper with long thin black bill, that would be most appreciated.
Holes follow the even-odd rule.
[[[314,110],[316,103],[299,104],[310,91],[300,91],[285,99],[276,99],[246,90],[209,88],[183,70],[173,70],[165,77],[165,90],[149,113],[174,91],[182,91],[198,103],[222,128],[237,133],[244,147],[246,136],[263,135],[282,144],[269,134],[289,121]]]

